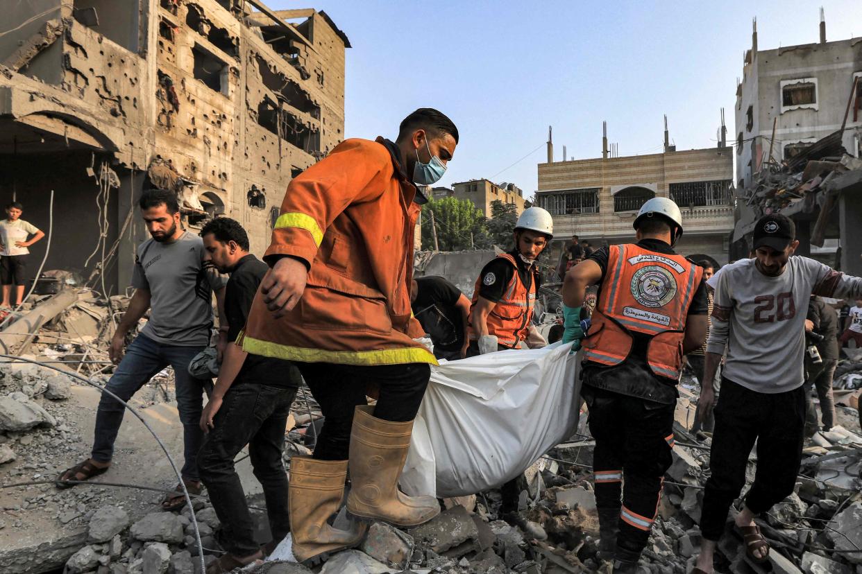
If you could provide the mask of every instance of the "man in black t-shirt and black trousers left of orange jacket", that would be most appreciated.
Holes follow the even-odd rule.
[[[222,522],[222,533],[227,534],[222,546],[228,552],[218,560],[222,570],[215,571],[232,571],[272,552],[290,531],[281,453],[290,404],[302,377],[290,361],[248,355],[234,344],[269,270],[265,262],[248,253],[246,231],[234,219],[218,218],[203,227],[201,237],[209,260],[222,273],[230,273],[224,303],[228,326],[219,332],[226,344],[218,380],[201,417],[207,435],[197,465]],[[264,551],[254,539],[254,523],[234,469],[234,457],[246,445],[254,476],[263,486],[272,532],[272,542]]]

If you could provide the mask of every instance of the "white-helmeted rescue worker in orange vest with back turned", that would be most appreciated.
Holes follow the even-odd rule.
[[[672,462],[683,355],[703,344],[708,309],[703,269],[672,249],[683,234],[677,204],[647,201],[634,229],[636,244],[597,250],[563,282],[563,342],[583,344],[582,394],[596,439],[599,558],[613,559],[615,572],[636,571],[647,545]],[[596,283],[584,336],[584,291]]]

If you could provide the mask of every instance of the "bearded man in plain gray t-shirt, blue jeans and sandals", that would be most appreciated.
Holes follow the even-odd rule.
[[[141,244],[135,256],[134,294],[109,349],[111,360],[119,365],[105,389],[128,401],[155,373],[168,365],[173,367],[177,407],[184,429],[183,482],[190,493],[199,494],[197,451],[203,431],[198,422],[203,410],[204,386],[211,381],[193,378],[188,369],[191,359],[209,344],[214,291],[223,317],[227,277],[205,262],[203,240],[180,227],[176,194],[152,189],[141,196],[139,204],[152,239]],[[123,355],[128,331],[138,324],[147,309],[149,321]],[[228,328],[222,321],[220,324],[220,329]],[[91,458],[63,472],[57,481],[59,488],[72,486],[66,480],[87,480],[108,470],[124,412],[116,399],[102,395]],[[178,494],[166,497],[162,507],[170,510],[183,504],[178,486]]]

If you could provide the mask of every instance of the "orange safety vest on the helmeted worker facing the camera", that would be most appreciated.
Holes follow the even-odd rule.
[[[497,343],[515,348],[518,343],[527,339],[530,321],[533,319],[533,306],[536,300],[536,284],[539,281],[539,271],[535,266],[530,268],[533,281],[528,290],[524,282],[521,281],[515,257],[509,255],[509,253],[501,253],[497,257],[502,257],[511,263],[512,267],[515,268],[515,273],[512,274],[509,286],[506,287],[506,291],[503,293],[503,299],[497,301],[497,305],[488,314],[486,320],[488,334],[497,336]],[[476,301],[479,298],[479,287],[483,279],[484,277],[480,275],[476,280],[476,286],[473,287],[473,300],[470,306],[471,317],[473,307],[476,306]],[[471,324],[470,339],[471,341],[477,341],[478,338]]]

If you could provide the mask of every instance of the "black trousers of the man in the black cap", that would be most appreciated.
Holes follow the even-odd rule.
[[[757,441],[757,472],[746,494],[754,514],[789,497],[802,461],[805,429],[805,390],[754,392],[732,380],[721,380],[715,406],[715,433],[709,452],[712,472],[703,492],[701,532],[719,540],[728,509],[746,484],[748,454]]]

